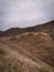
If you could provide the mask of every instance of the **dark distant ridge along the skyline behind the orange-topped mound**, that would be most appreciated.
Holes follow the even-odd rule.
[[[14,35],[18,35],[24,32],[46,32],[54,40],[54,20],[47,23],[43,23],[43,24],[35,25],[35,27],[23,28],[23,29],[11,28],[0,33],[0,37],[14,37]]]

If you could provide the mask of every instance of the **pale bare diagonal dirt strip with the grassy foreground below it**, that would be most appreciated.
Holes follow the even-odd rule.
[[[54,72],[54,68],[11,50],[6,43],[0,43],[0,72]]]

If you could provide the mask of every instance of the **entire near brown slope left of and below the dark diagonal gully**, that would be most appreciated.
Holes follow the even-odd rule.
[[[54,72],[53,66],[39,60],[15,41],[12,38],[0,41],[0,72]]]

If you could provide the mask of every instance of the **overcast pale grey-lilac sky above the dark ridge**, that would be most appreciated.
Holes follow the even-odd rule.
[[[0,0],[0,30],[54,20],[54,0]]]

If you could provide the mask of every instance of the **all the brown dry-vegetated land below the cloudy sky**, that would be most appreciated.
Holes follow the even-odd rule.
[[[54,72],[54,21],[0,32],[0,72]]]

